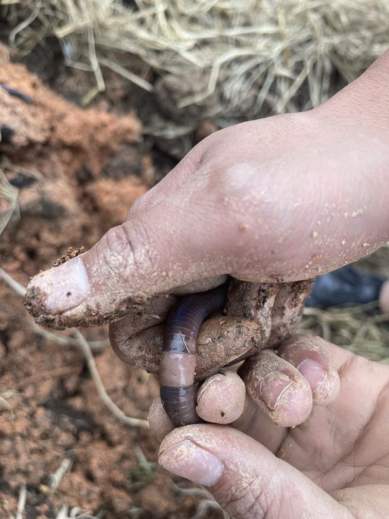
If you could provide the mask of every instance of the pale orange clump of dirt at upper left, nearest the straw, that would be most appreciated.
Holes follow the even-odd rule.
[[[30,164],[32,152],[38,150],[45,158],[55,154],[68,173],[87,167],[99,173],[110,154],[120,143],[136,143],[141,124],[133,115],[117,117],[103,110],[81,110],[65,101],[41,83],[24,66],[2,63],[0,83],[28,94],[33,103],[0,89],[0,121],[6,122],[11,155],[20,157],[23,149]],[[34,160],[33,160],[34,163]]]

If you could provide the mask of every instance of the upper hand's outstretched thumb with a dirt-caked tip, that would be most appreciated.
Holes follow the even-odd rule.
[[[201,204],[192,203],[188,184],[109,229],[90,251],[35,276],[25,306],[37,321],[53,327],[102,324],[141,312],[157,294],[225,274],[216,233]],[[218,259],[207,258],[207,251]]]

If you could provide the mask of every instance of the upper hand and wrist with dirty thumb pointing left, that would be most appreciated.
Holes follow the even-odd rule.
[[[389,125],[370,76],[313,111],[210,135],[126,223],[33,278],[27,307],[54,327],[142,313],[141,331],[163,322],[172,300],[161,294],[206,290],[226,274],[309,279],[372,252],[389,239]]]

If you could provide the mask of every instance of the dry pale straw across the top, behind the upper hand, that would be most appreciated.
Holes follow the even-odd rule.
[[[146,77],[123,66],[131,54],[144,63],[143,76],[152,69],[180,80],[177,107],[197,105],[201,117],[213,117],[220,127],[316,106],[389,44],[387,0],[135,0],[131,8],[119,0],[1,4],[13,26],[9,42],[21,55],[55,35],[67,64],[93,72],[99,90],[105,88],[102,68],[109,67],[152,91]],[[182,120],[166,137],[195,124],[196,117]]]

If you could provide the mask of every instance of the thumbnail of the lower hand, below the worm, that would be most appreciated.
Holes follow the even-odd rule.
[[[164,469],[204,486],[216,483],[223,473],[219,458],[189,440],[164,450],[158,461]]]

